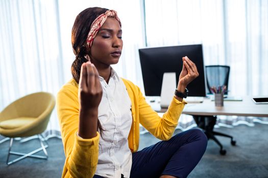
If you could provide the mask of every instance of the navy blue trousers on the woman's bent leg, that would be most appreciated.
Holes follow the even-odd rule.
[[[207,137],[199,129],[176,134],[167,141],[132,154],[131,178],[156,178],[161,175],[187,177],[207,147]],[[101,176],[94,176],[94,178]]]

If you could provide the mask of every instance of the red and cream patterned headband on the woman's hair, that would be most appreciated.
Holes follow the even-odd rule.
[[[93,23],[90,26],[90,31],[87,35],[87,48],[91,48],[93,40],[96,36],[96,34],[98,33],[99,29],[101,28],[101,26],[104,24],[105,20],[107,19],[107,17],[113,17],[116,20],[118,20],[120,26],[121,26],[121,22],[120,19],[117,16],[117,12],[114,10],[108,10],[106,11],[104,14],[101,14],[99,17],[97,17]]]

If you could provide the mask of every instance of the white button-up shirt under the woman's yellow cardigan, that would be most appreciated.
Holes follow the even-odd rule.
[[[95,174],[120,178],[130,177],[132,153],[128,135],[132,124],[131,100],[126,86],[112,69],[109,82],[100,77],[103,97],[98,117],[104,129],[100,137],[99,160]]]

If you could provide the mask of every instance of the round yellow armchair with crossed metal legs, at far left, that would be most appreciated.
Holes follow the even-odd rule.
[[[8,165],[26,157],[48,158],[45,150],[48,144],[43,144],[44,139],[41,138],[41,133],[46,129],[54,107],[55,97],[52,94],[38,92],[19,98],[0,112],[0,134],[10,137]],[[28,154],[11,152],[13,138],[33,135],[38,135],[41,144],[39,149]],[[41,150],[43,150],[45,156],[34,155]],[[21,157],[9,162],[10,154],[20,155]]]

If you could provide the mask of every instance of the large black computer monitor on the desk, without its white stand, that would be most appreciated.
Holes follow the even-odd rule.
[[[145,96],[160,96],[165,72],[176,72],[178,84],[183,64],[182,57],[186,55],[196,64],[199,72],[199,76],[187,85],[188,96],[205,97],[206,86],[201,44],[139,49]]]

